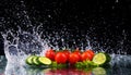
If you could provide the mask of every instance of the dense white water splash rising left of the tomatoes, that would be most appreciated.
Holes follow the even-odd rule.
[[[49,49],[47,42],[39,38],[37,34],[23,32],[19,35],[8,32],[3,35],[4,53],[9,62],[24,62],[31,54],[44,55],[44,51]]]

